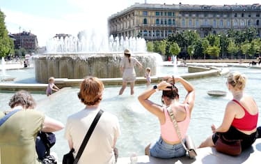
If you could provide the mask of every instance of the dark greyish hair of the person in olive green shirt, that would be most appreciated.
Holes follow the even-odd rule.
[[[31,108],[33,109],[36,106],[35,100],[31,96],[31,94],[28,91],[17,91],[12,98],[10,98],[9,106],[11,108],[22,105],[26,109]]]

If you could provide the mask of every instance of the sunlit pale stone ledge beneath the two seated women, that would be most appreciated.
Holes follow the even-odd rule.
[[[197,154],[195,159],[190,159],[187,156],[181,158],[173,159],[159,159],[153,158],[151,156],[138,156],[138,163],[142,164],[173,164],[173,163],[203,163],[203,164],[238,164],[238,163],[260,163],[261,156],[261,139],[255,141],[252,147],[246,149],[239,156],[228,156],[226,154],[221,154],[216,151],[214,147],[205,147],[197,149]],[[117,164],[130,163],[129,157],[119,158]]]

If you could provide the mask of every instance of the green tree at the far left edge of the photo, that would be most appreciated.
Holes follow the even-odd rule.
[[[14,52],[14,43],[8,36],[8,31],[4,22],[5,17],[6,16],[0,10],[0,57],[6,57],[8,54]]]

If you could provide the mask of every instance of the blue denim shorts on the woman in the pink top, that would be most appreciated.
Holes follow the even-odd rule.
[[[159,140],[155,144],[150,145],[150,156],[156,158],[176,158],[186,154],[186,150],[182,144],[168,144],[159,137]]]

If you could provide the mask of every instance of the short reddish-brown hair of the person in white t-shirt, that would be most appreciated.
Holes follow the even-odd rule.
[[[95,105],[102,100],[104,84],[97,77],[86,77],[81,82],[78,98],[85,105]]]

